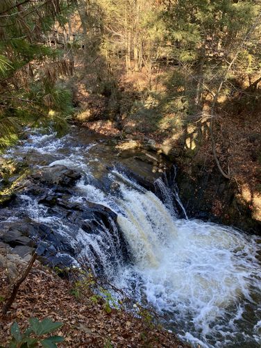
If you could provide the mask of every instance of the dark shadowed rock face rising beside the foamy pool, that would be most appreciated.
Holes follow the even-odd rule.
[[[190,165],[188,169],[180,163],[176,181],[189,217],[260,235],[261,222],[253,219],[249,204],[239,199],[237,184],[224,179],[217,168],[206,171],[204,165]]]

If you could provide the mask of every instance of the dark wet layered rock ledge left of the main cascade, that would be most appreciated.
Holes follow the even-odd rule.
[[[84,199],[83,202],[71,201],[75,184],[81,179],[81,173],[69,169],[64,165],[42,167],[31,174],[23,183],[26,187],[21,194],[26,195],[31,209],[39,208],[47,212],[49,217],[65,221],[69,226],[71,238],[74,238],[78,229],[85,233],[98,234],[99,223],[104,224],[112,231],[112,224],[116,223],[117,215],[106,206],[94,204]],[[41,219],[41,212],[35,211],[32,219],[22,208],[24,199],[20,194],[13,198],[8,207],[0,212],[0,242],[2,248],[18,254],[25,260],[37,247],[37,254],[43,263],[49,265],[71,265],[84,245],[73,245],[68,235],[56,233],[55,225],[45,224]],[[37,219],[37,214],[39,218]],[[98,223],[99,222],[99,223]],[[67,231],[68,232],[68,231]],[[121,248],[127,256],[124,239],[121,240]],[[99,267],[97,260],[96,267]]]

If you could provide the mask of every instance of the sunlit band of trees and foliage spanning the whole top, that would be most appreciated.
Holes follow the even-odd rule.
[[[225,76],[219,99],[232,99],[249,80],[244,100],[255,94],[253,103],[246,102],[255,105],[259,13],[255,0],[1,1],[0,146],[12,144],[24,124],[54,126],[58,133],[66,129],[73,108],[63,80],[72,73],[75,57],[83,63],[78,80],[93,78],[87,92],[110,99],[110,118],[122,112],[124,67],[127,74],[142,72],[148,80],[133,103],[140,105],[141,118],[155,106],[157,117],[178,117],[179,126],[210,114]],[[163,92],[157,91],[155,76],[165,85]]]

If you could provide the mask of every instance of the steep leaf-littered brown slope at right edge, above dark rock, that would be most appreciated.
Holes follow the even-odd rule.
[[[220,116],[215,127],[215,142],[219,162],[237,183],[237,198],[249,210],[252,219],[261,222],[261,114],[230,114]],[[210,140],[203,142],[199,157],[212,155]],[[220,211],[224,214],[226,212]]]

